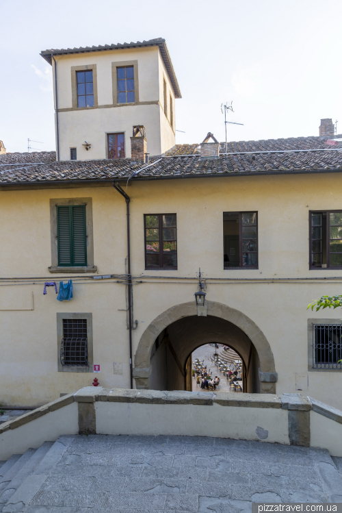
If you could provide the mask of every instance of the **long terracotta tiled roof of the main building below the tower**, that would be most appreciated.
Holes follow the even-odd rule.
[[[53,151],[8,153],[0,155],[0,185],[128,179],[134,171],[145,167],[146,170],[137,174],[134,180],[264,173],[342,172],[342,151],[328,147],[325,144],[326,139],[308,137],[229,142],[228,151],[231,153],[221,154],[216,158],[201,158],[200,153],[196,151],[198,145],[176,145],[168,155],[151,158],[148,167],[146,164],[132,162],[129,159],[56,162]],[[224,143],[220,146],[221,149],[225,147]],[[340,146],[342,150],[342,144]],[[259,153],[263,151],[266,153]],[[190,156],[194,153],[196,156]],[[24,165],[25,162],[27,166]],[[34,164],[34,162],[43,162],[43,164]]]

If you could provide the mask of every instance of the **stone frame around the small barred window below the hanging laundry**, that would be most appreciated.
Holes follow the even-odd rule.
[[[59,373],[92,373],[94,372],[92,314],[75,312],[57,312],[57,366]],[[63,338],[63,319],[86,319],[88,339],[88,366],[62,365],[60,352]]]

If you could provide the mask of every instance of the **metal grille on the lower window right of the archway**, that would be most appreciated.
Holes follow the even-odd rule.
[[[342,368],[342,325],[313,325],[313,368]]]

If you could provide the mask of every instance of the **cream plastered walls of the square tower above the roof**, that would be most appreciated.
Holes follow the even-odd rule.
[[[123,132],[125,156],[131,158],[129,138],[133,125],[146,127],[148,153],[161,155],[175,145],[174,92],[158,47],[116,49],[90,53],[56,55],[57,103],[60,134],[60,160],[70,159],[70,148],[77,149],[77,160],[107,158],[107,134]],[[134,66],[135,103],[117,103],[116,66]],[[53,64],[55,95],[55,65]],[[94,107],[77,108],[76,71],[92,69]],[[173,99],[173,123],[163,112],[163,77],[167,97]],[[83,147],[90,142],[91,149]],[[57,144],[57,139],[56,139]]]

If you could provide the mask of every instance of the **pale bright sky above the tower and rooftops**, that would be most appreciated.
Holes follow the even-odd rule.
[[[0,0],[0,140],[55,150],[51,66],[40,51],[166,39],[182,99],[177,144],[342,133],[341,0]],[[185,132],[185,133],[183,133]]]

